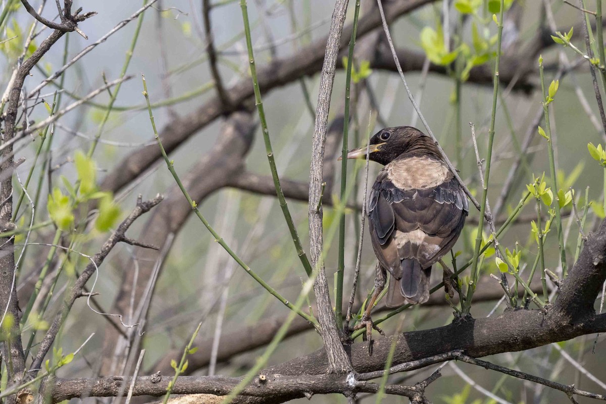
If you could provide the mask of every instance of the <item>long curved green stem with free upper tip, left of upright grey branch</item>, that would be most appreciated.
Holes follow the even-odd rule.
[[[210,231],[210,234],[212,234],[213,237],[215,237],[216,242],[218,242],[219,245],[221,245],[221,247],[223,247],[223,249],[225,251],[227,251],[228,254],[230,254],[230,256],[238,263],[238,265],[240,265],[240,267],[242,267],[246,271],[247,274],[249,274],[251,277],[253,277],[253,279],[255,279],[261,286],[263,286],[265,288],[265,290],[267,290],[269,293],[271,293],[273,296],[275,296],[278,300],[280,300],[280,302],[284,303],[284,305],[287,306],[290,310],[295,310],[296,313],[299,314],[299,316],[303,317],[305,320],[307,320],[310,323],[313,323],[313,325],[318,327],[319,324],[315,318],[309,316],[308,314],[303,313],[301,310],[295,309],[295,306],[293,306],[292,303],[290,303],[290,302],[288,302],[288,300],[284,299],[284,297],[282,297],[281,294],[279,294],[274,288],[272,288],[263,279],[261,279],[261,277],[255,273],[255,271],[251,270],[250,267],[248,267],[248,265],[246,265],[244,263],[244,261],[242,261],[240,259],[240,257],[238,257],[238,255],[233,250],[231,250],[231,248],[227,245],[227,243],[222,239],[221,236],[219,236],[219,234],[215,231],[215,229],[213,229],[213,227],[211,227],[210,223],[208,223],[208,220],[206,220],[206,218],[198,210],[198,205],[196,205],[196,202],[194,202],[191,199],[190,194],[187,192],[187,190],[185,190],[185,187],[184,187],[183,183],[181,182],[181,179],[179,178],[178,174],[175,171],[173,162],[168,159],[166,151],[164,150],[164,146],[162,145],[162,141],[160,140],[160,136],[158,135],[158,130],[156,129],[156,123],[154,121],[153,114],[151,113],[151,104],[150,104],[150,100],[149,100],[149,95],[147,93],[147,83],[145,82],[145,76],[144,75],[141,75],[141,76],[143,79],[143,88],[144,88],[143,95],[145,96],[145,101],[147,102],[148,111],[149,111],[149,115],[150,115],[150,121],[151,121],[151,127],[153,128],[154,136],[156,137],[156,141],[158,142],[158,146],[160,147],[162,157],[164,157],[164,161],[166,162],[168,171],[170,171],[170,173],[173,175],[175,182],[181,189],[181,192],[185,196],[185,199],[187,199],[187,202],[189,202],[189,204],[190,204],[191,208],[193,209],[194,213],[196,214],[196,216],[198,216],[198,219],[200,219],[202,224],[204,224],[204,226],[208,229],[208,231]]]

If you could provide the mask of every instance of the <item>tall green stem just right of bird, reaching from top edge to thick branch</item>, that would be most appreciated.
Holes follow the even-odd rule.
[[[490,179],[490,163],[492,159],[492,148],[494,142],[494,122],[496,121],[496,104],[499,94],[499,62],[501,61],[501,37],[503,33],[503,11],[504,11],[504,0],[501,0],[501,10],[499,11],[499,20],[497,24],[497,45],[496,45],[496,61],[494,62],[494,78],[493,78],[493,105],[492,113],[490,116],[490,128],[488,129],[488,151],[486,156],[486,170],[484,174],[484,188],[482,189],[482,199],[480,200],[480,216],[478,219],[478,235],[476,236],[476,247],[473,254],[473,261],[471,263],[471,277],[469,280],[469,287],[467,289],[467,300],[465,302],[464,313],[470,313],[471,310],[471,299],[473,299],[473,292],[476,289],[478,283],[478,259],[480,256],[480,247],[482,244],[482,231],[484,230],[484,214],[486,212],[486,200],[488,197],[488,180]]]

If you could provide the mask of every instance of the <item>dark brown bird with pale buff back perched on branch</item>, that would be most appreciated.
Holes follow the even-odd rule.
[[[350,150],[348,159],[384,165],[368,198],[368,228],[378,259],[375,291],[354,329],[383,334],[371,310],[391,279],[385,305],[424,303],[429,299],[431,267],[444,268],[445,289],[452,295],[452,272],[442,256],[453,248],[469,213],[467,196],[448,168],[435,141],[422,131],[400,126],[384,128],[368,146]],[[370,349],[370,343],[369,343]]]

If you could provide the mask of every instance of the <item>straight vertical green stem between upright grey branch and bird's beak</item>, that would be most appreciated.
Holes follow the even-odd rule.
[[[353,66],[353,49],[356,45],[356,32],[358,31],[358,16],[360,13],[360,0],[356,0],[353,14],[353,30],[349,41],[347,56],[347,74],[345,76],[345,111],[343,116],[343,147],[341,150],[341,201],[345,199],[347,187],[347,148],[349,135],[351,68]],[[335,317],[339,329],[343,329],[341,308],[343,305],[343,274],[345,271],[345,215],[339,216],[339,257],[337,262],[337,279],[335,293]]]

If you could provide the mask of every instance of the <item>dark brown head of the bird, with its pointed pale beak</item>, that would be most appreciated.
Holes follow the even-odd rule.
[[[370,138],[370,147],[363,146],[348,151],[348,159],[368,159],[387,165],[403,153],[431,156],[442,160],[435,142],[431,137],[410,126],[385,128]],[[339,157],[341,160],[341,157]]]

